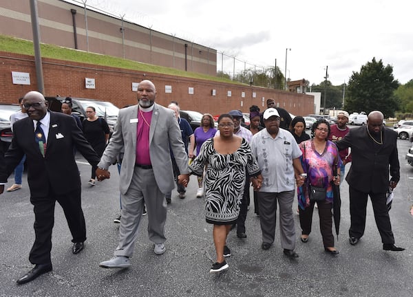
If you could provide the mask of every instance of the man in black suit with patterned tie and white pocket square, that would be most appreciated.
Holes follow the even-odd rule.
[[[6,164],[3,164],[3,168],[6,168],[0,173],[1,185],[19,164],[21,157],[26,155],[35,233],[29,261],[35,266],[19,278],[19,284],[28,283],[52,270],[50,250],[56,201],[65,212],[73,236],[72,252],[77,254],[83,250],[86,227],[81,208],[81,179],[73,147],[90,164],[97,165],[99,162],[98,155],[83,137],[75,120],[70,115],[47,111],[47,101],[41,93],[30,91],[25,94],[23,106],[29,117],[14,124],[12,144],[4,155]],[[0,186],[0,193],[3,188]]]

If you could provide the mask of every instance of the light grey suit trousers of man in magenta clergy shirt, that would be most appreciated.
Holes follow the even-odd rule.
[[[144,203],[148,212],[148,236],[153,243],[164,243],[167,201],[158,188],[152,169],[135,167],[131,185],[121,195],[122,217],[119,227],[119,244],[115,256],[132,256],[138,237],[138,227]]]

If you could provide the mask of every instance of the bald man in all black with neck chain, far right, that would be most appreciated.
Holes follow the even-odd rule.
[[[383,113],[372,111],[367,126],[350,129],[336,142],[340,150],[351,148],[352,164],[346,177],[350,191],[350,244],[356,245],[366,227],[366,206],[370,196],[383,250],[402,251],[394,245],[394,236],[386,193],[395,188],[400,179],[397,153],[397,133],[383,126]],[[389,181],[389,166],[390,175]]]

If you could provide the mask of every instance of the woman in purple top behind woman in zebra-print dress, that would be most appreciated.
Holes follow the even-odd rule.
[[[195,146],[196,152],[195,156],[197,156],[201,151],[201,146],[209,140],[210,138],[215,136],[217,129],[215,129],[215,122],[213,121],[212,115],[209,113],[204,113],[202,115],[201,124],[200,126],[193,131],[193,135],[195,135]],[[204,195],[204,188],[202,186],[202,177],[198,177],[198,190],[196,191],[196,197],[200,198]]]

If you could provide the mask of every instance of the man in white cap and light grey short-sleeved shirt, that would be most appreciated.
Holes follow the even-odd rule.
[[[262,187],[257,192],[260,208],[263,250],[268,250],[275,239],[277,201],[279,205],[279,234],[284,254],[295,259],[295,227],[293,201],[295,184],[304,184],[304,173],[299,157],[301,150],[293,135],[279,129],[277,109],[264,111],[266,129],[256,133],[251,140],[251,149],[262,172]]]

